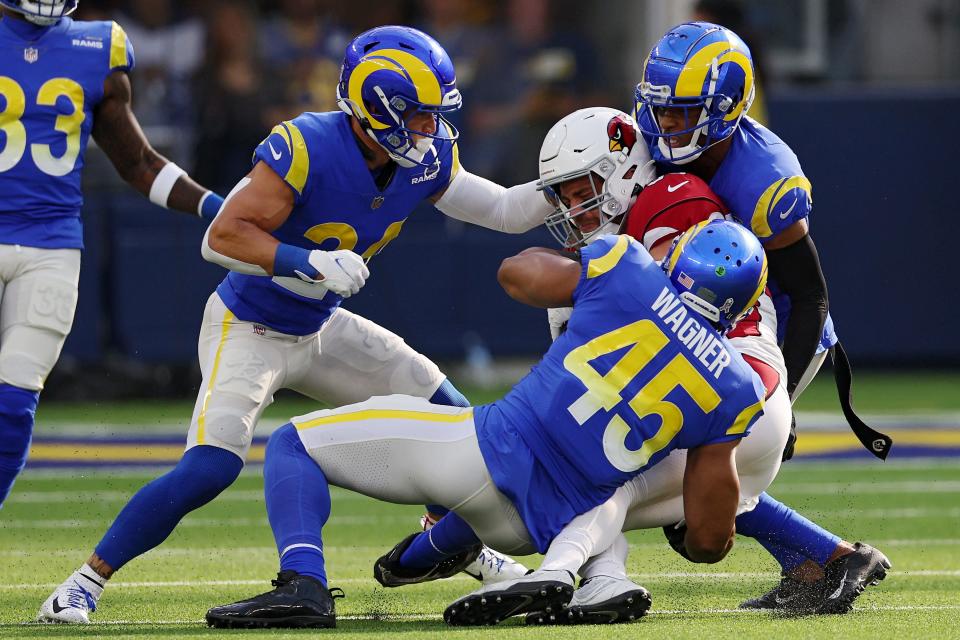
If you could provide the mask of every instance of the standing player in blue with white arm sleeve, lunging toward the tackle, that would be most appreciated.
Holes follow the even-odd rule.
[[[226,489],[278,389],[333,406],[393,393],[468,404],[437,365],[340,302],[363,286],[366,262],[420,202],[510,233],[542,224],[551,207],[535,181],[508,189],[460,166],[458,132],[445,116],[461,96],[450,58],[428,35],[387,26],[357,36],[337,98],[341,111],[274,127],[227,196],[204,239],[203,255],[230,273],[204,312],[187,450],[133,496],[87,563],[44,602],[41,620],[89,622],[116,570]],[[285,559],[309,551],[293,548]],[[495,569],[491,578],[526,572]]]

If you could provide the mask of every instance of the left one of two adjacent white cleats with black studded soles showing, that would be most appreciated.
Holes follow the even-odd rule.
[[[484,586],[466,595],[443,612],[452,626],[497,624],[510,616],[531,611],[549,615],[563,611],[573,597],[569,571],[534,571],[522,578]]]

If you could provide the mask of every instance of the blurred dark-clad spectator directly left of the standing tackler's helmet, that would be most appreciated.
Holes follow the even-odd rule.
[[[254,147],[285,109],[282,86],[258,55],[251,5],[219,2],[209,25],[206,63],[194,84],[199,126],[193,175],[226,193],[250,170]]]

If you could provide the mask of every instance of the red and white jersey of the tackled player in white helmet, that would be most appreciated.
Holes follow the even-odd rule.
[[[668,173],[646,187],[627,216],[625,232],[642,239],[648,250],[668,242],[704,220],[727,217],[729,211],[703,180],[690,173]],[[753,310],[727,332],[727,339],[741,354],[773,367],[786,382],[787,367],[777,344],[777,314],[769,288]],[[774,376],[776,377],[776,376]],[[776,381],[764,380],[768,391]]]

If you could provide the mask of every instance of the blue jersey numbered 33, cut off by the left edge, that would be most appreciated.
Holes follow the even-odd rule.
[[[116,22],[62,18],[26,39],[0,21],[0,242],[82,248],[80,171],[107,76],[133,68]]]

